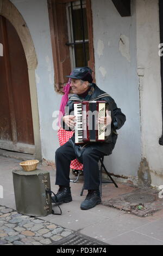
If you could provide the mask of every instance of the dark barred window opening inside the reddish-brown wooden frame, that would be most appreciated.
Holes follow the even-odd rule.
[[[85,1],[67,4],[68,39],[71,67],[84,67],[89,62],[89,37]]]

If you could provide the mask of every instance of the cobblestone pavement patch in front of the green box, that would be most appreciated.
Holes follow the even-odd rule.
[[[0,245],[51,245],[73,231],[0,206]]]

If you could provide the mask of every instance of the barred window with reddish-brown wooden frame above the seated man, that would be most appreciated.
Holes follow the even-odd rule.
[[[62,92],[74,67],[95,70],[91,0],[48,0],[55,91]]]

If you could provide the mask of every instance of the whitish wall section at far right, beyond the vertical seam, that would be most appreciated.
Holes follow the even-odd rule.
[[[158,0],[136,0],[137,65],[142,70],[140,105],[142,156],[147,159],[153,186],[163,184],[161,80]]]

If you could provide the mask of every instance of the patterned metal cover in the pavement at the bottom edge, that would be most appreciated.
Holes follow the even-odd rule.
[[[89,236],[77,233],[71,234],[60,241],[54,242],[52,245],[108,245]]]

